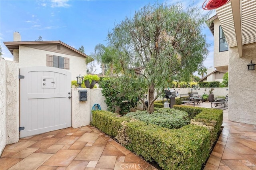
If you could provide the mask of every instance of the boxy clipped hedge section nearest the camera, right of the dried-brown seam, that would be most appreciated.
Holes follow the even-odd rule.
[[[126,147],[164,170],[200,170],[210,151],[210,132],[196,125],[170,130],[136,121],[125,131]]]

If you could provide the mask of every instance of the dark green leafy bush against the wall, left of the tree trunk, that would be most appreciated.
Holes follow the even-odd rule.
[[[123,81],[124,85],[128,84],[128,81]],[[127,83],[126,83],[127,82]],[[104,78],[100,81],[102,88],[102,95],[105,97],[105,103],[108,106],[108,111],[116,112],[116,106],[120,108],[120,114],[126,114],[130,112],[130,109],[134,108],[138,104],[137,94],[130,93],[127,87],[123,89],[118,88],[118,79],[114,77]],[[128,101],[126,103],[122,101]]]

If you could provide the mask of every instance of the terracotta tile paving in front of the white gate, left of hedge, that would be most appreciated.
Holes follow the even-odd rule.
[[[155,169],[92,126],[65,128],[7,145],[0,170]]]

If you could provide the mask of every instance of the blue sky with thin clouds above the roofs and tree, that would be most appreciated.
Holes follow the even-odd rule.
[[[178,0],[158,1],[175,3]],[[2,57],[13,60],[3,42],[13,41],[13,33],[19,32],[22,41],[34,41],[39,36],[44,41],[60,40],[76,49],[84,46],[90,55],[98,43],[106,44],[106,37],[116,23],[154,0],[0,0],[0,44]],[[194,4],[202,9],[204,0]],[[192,3],[182,0],[184,7]],[[206,12],[203,11],[202,12]],[[208,28],[210,53],[204,61],[213,66],[213,36]],[[100,73],[99,66],[96,73]]]

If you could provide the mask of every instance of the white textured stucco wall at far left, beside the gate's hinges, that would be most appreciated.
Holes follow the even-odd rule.
[[[18,63],[0,57],[0,154],[6,144],[19,140]]]

